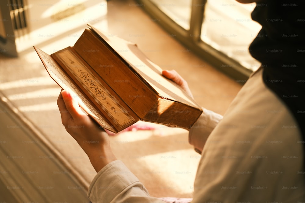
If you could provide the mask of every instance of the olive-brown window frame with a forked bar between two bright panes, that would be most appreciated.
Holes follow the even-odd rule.
[[[238,61],[228,57],[226,54],[216,50],[201,40],[200,34],[205,6],[196,5],[205,5],[207,0],[192,0],[189,30],[185,30],[179,26],[150,0],[136,1],[139,4],[145,5],[142,6],[142,9],[144,9],[144,11],[153,19],[160,19],[157,23],[168,33],[174,35],[181,44],[192,50],[196,55],[213,67],[235,79],[236,82],[244,84],[253,72],[252,70],[242,66]]]

